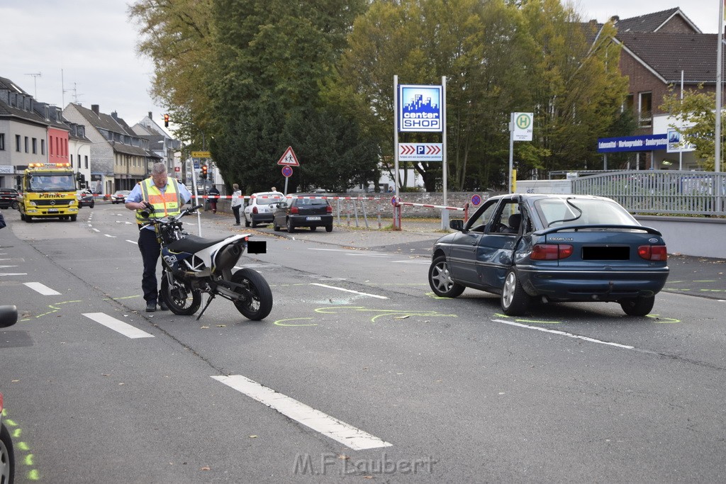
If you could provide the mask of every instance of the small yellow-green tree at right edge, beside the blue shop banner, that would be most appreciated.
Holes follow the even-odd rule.
[[[671,94],[664,96],[661,110],[668,112],[674,118],[669,126],[677,128],[683,136],[683,141],[693,144],[696,149],[694,155],[698,159],[699,168],[714,171],[716,167],[716,94],[704,91],[703,85],[698,89],[688,89],[680,94],[671,89]],[[683,127],[685,126],[685,127]],[[721,126],[726,126],[726,112],[721,113]],[[722,132],[721,146],[726,141]],[[721,167],[724,167],[723,153]]]

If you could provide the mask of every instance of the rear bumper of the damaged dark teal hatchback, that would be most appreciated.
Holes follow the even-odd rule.
[[[523,289],[531,296],[550,300],[612,301],[660,292],[669,269],[607,271],[543,271],[518,269]]]

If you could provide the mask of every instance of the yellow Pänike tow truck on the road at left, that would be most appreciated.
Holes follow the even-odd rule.
[[[76,174],[70,163],[30,163],[20,181],[17,210],[26,222],[48,217],[76,221]]]

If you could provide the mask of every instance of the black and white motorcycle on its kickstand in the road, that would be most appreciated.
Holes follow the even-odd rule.
[[[205,239],[184,231],[181,218],[202,207],[195,205],[181,210],[179,215],[163,218],[149,218],[153,213],[151,206],[140,210],[142,217],[148,218],[143,226],[154,226],[161,246],[161,300],[172,313],[189,316],[200,308],[202,294],[208,294],[198,321],[219,295],[232,301],[242,316],[253,321],[265,319],[272,311],[269,284],[250,268],[236,272],[232,269],[245,250],[250,254],[266,253],[266,242],[251,241],[250,234]]]

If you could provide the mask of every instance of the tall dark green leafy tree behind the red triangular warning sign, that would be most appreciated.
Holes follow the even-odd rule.
[[[332,112],[320,92],[365,7],[364,0],[214,1],[212,152],[225,179],[246,192],[279,185],[277,160],[288,146],[301,163],[291,190],[298,184],[348,189],[353,180],[375,176],[375,143],[345,112]],[[336,163],[346,169],[316,169]]]

